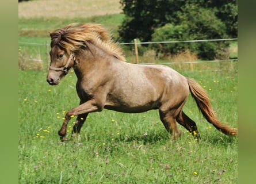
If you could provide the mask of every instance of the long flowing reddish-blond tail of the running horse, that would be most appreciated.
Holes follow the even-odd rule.
[[[193,79],[188,79],[188,85],[190,92],[192,94],[192,97],[196,101],[198,109],[200,109],[202,115],[205,117],[205,119],[213,124],[213,126],[218,129],[220,132],[230,135],[230,136],[236,136],[238,135],[238,129],[237,128],[230,128],[228,126],[225,126],[221,124],[219,120],[217,120],[215,113],[213,112],[212,105],[210,103],[210,99],[205,92],[205,90]]]

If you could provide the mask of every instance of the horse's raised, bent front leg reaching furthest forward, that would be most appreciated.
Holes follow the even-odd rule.
[[[68,121],[70,121],[70,119],[72,117],[77,116],[79,114],[88,114],[90,112],[101,111],[102,109],[103,109],[102,103],[97,103],[94,99],[90,99],[89,101],[77,106],[76,108],[68,110],[68,112],[66,113],[66,116],[65,116],[65,120],[62,124],[62,128],[60,128],[60,130],[58,132],[59,136],[60,136],[60,140],[62,140],[62,141],[64,140],[64,137],[66,136],[66,133],[67,133]],[[82,125],[81,125],[81,127],[82,127]],[[79,131],[80,131],[80,129],[79,129]]]

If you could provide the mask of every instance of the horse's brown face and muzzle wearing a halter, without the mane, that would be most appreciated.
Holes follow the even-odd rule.
[[[50,51],[51,64],[47,75],[49,85],[58,85],[63,76],[73,66],[75,61],[74,53],[60,49],[58,45],[54,45]]]

